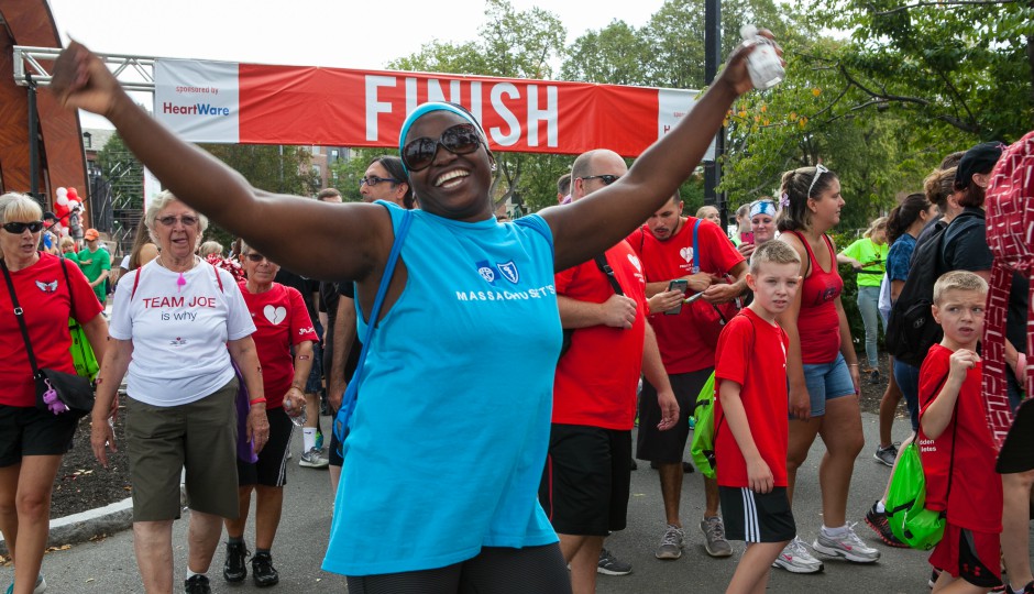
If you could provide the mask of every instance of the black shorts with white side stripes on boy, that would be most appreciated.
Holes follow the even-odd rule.
[[[783,542],[796,536],[787,487],[756,493],[750,487],[718,487],[725,536],[745,542]]]

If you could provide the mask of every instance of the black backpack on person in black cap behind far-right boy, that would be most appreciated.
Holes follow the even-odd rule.
[[[947,227],[934,231],[912,254],[909,278],[891,307],[884,337],[887,351],[898,361],[921,366],[930,348],[944,337],[931,306],[934,302],[934,283],[948,272],[943,257],[946,238],[949,231],[955,238],[978,224],[983,224],[981,218],[964,212]]]

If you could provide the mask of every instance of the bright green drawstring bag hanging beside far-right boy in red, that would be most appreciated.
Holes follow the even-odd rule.
[[[944,537],[945,517],[943,512],[926,509],[925,505],[926,476],[919,447],[913,442],[902,450],[894,466],[887,493],[887,521],[902,542],[928,551]]]

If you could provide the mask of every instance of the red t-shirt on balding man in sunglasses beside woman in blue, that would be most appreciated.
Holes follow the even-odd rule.
[[[571,348],[557,363],[553,422],[630,431],[636,422],[636,387],[642,370],[646,282],[631,246],[622,241],[606,252],[607,264],[626,297],[637,304],[631,329],[592,326],[571,336]],[[602,304],[614,287],[592,260],[557,275],[557,293]]]

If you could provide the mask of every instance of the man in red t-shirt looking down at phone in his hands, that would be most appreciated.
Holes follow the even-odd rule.
[[[714,372],[721,330],[705,328],[712,322],[701,321],[694,311],[743,295],[747,286],[747,263],[717,226],[701,224],[695,217],[682,216],[682,199],[678,193],[632,232],[628,242],[642,262],[646,294],[653,314],[650,323],[657,332],[661,359],[680,410],[675,430],[654,430],[654,419],[659,417],[654,404],[657,391],[649,380],[642,383],[636,458],[653,462],[660,474],[668,526],[654,556],[679,559],[684,547],[679,507],[689,417],[693,415],[701,388]],[[680,290],[682,287],[685,290]],[[696,302],[684,302],[685,294]],[[714,479],[704,477],[704,491],[706,506],[700,522],[704,548],[712,557],[730,557],[733,548],[725,538],[725,525],[718,515],[718,484]]]

